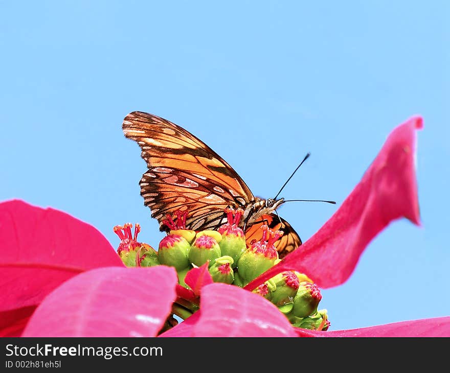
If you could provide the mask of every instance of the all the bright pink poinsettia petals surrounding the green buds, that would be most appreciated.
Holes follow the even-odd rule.
[[[391,221],[406,217],[419,224],[414,154],[421,127],[419,117],[398,126],[329,221],[247,290],[286,270],[305,273],[321,287],[342,284]],[[450,317],[349,331],[294,328],[260,295],[211,283],[206,267],[186,275],[190,289],[169,267],[125,268],[95,228],[53,209],[5,202],[0,226],[9,232],[0,238],[0,247],[8,247],[0,257],[3,335],[25,328],[24,336],[155,336],[167,326],[174,300],[184,299],[199,310],[161,336],[450,336]]]

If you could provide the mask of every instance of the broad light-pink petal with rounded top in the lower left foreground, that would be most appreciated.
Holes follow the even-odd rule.
[[[42,301],[23,336],[155,336],[171,311],[177,281],[166,266],[81,273]]]

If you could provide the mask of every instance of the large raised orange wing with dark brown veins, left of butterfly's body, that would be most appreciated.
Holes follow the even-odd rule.
[[[162,230],[165,215],[176,209],[188,209],[188,226],[206,229],[227,205],[243,207],[254,200],[233,168],[182,127],[134,111],[125,117],[122,128],[142,149],[148,171],[140,181],[141,195]]]

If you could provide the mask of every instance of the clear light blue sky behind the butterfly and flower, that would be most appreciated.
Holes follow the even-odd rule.
[[[124,116],[151,112],[226,159],[255,195],[341,203],[397,124],[421,114],[423,226],[392,223],[344,285],[333,330],[450,315],[447,2],[2,2],[0,200],[162,234]],[[291,203],[303,241],[337,207]]]

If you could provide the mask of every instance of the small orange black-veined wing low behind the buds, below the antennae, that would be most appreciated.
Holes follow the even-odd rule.
[[[282,224],[280,223],[280,219]],[[275,247],[277,248],[280,259],[285,257],[292,250],[298,248],[302,244],[299,235],[286,220],[283,218],[280,219],[278,219],[278,216],[275,214],[263,215],[261,220],[264,220],[264,222],[253,224],[245,230],[245,240],[247,244],[250,245],[252,240],[259,241],[262,238],[261,225],[267,224],[272,230],[281,230],[283,232],[283,236],[275,242]]]

